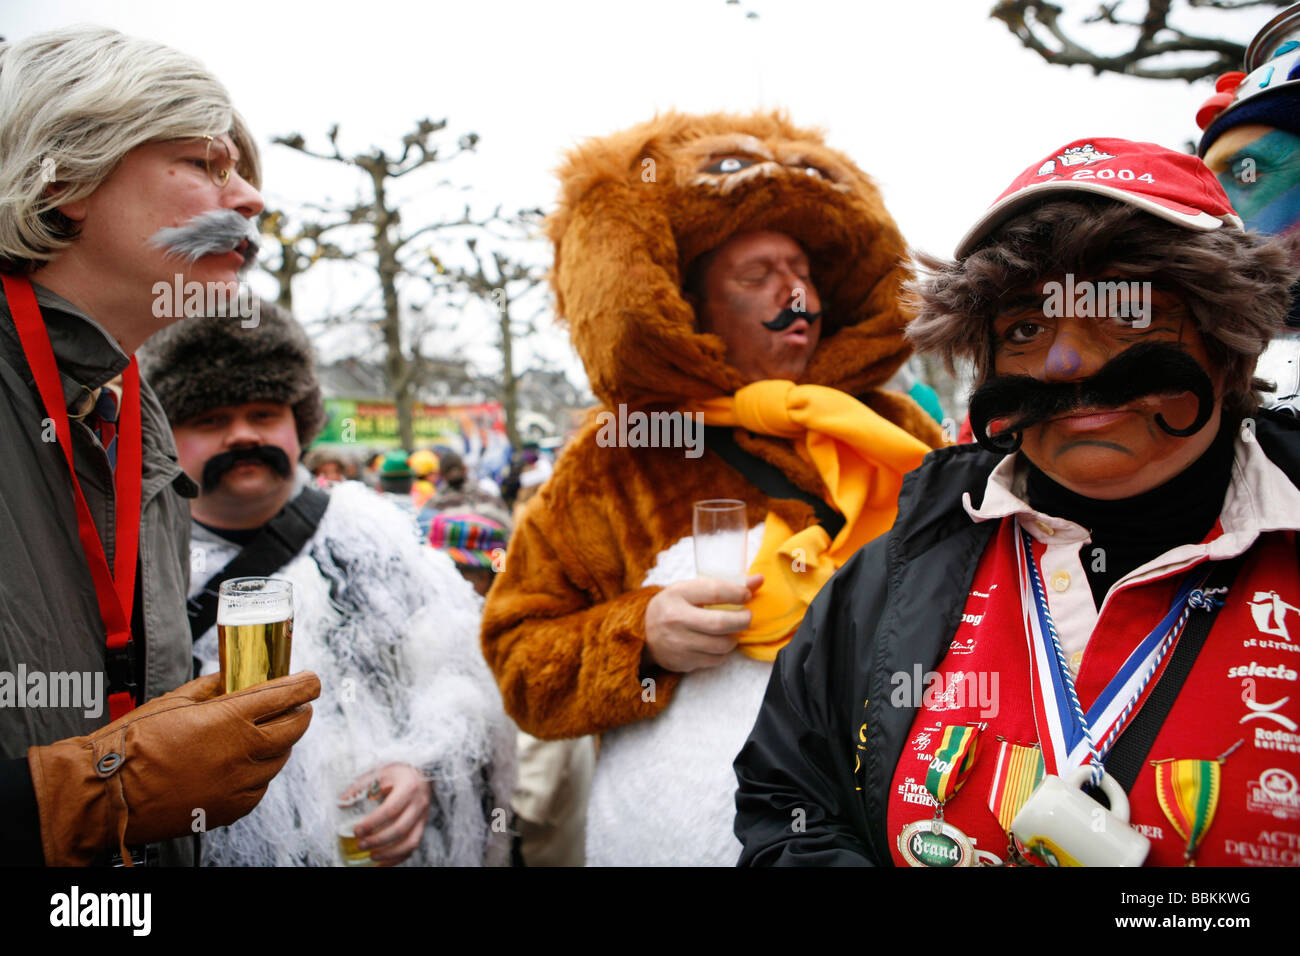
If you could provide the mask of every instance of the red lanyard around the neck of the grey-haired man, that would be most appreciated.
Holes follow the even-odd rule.
[[[73,483],[73,498],[77,502],[77,531],[81,535],[82,550],[90,576],[95,581],[95,597],[99,600],[99,613],[104,619],[108,635],[108,652],[112,658],[118,652],[130,648],[131,643],[131,602],[135,598],[135,563],[140,538],[140,368],[131,356],[131,363],[122,372],[122,407],[117,429],[117,468],[113,475],[116,490],[117,549],[113,554],[113,571],[108,570],[104,546],[90,514],[86,496],[77,480],[77,467],[73,460],[73,432],[68,423],[68,408],[64,403],[64,386],[55,363],[55,350],[49,345],[49,333],[40,317],[36,294],[31,282],[14,276],[0,276],[4,282],[9,312],[18,329],[18,341],[27,365],[36,380],[40,401],[46,415],[55,423],[55,434],[62,445],[68,459],[68,473]],[[127,658],[130,659],[130,658]],[[113,674],[113,669],[109,669]],[[127,675],[127,679],[134,675]],[[116,721],[131,710],[136,701],[127,691],[112,691],[108,695],[108,715]]]

